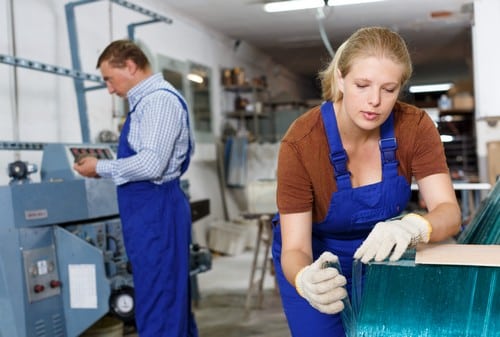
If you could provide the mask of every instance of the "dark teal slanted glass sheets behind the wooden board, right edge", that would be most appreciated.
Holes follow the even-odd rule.
[[[458,243],[500,244],[500,180],[481,202],[471,223],[457,239]],[[500,335],[500,333],[499,333]]]

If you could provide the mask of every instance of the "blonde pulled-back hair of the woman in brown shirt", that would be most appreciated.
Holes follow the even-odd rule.
[[[384,57],[403,65],[401,86],[410,79],[413,71],[410,53],[403,38],[384,27],[365,27],[357,30],[337,49],[328,66],[320,71],[322,97],[324,100],[341,100],[342,92],[336,87],[339,73],[346,76],[353,61],[359,57]]]

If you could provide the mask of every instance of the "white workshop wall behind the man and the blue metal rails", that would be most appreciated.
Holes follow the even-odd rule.
[[[242,43],[234,50],[232,39],[180,16],[162,1],[131,2],[173,19],[172,24],[153,23],[136,28],[136,39],[153,58],[161,54],[212,69],[213,131],[216,136],[220,134],[223,121],[221,68],[243,67],[248,78],[267,76],[271,95],[288,92],[301,97],[307,92],[307,84],[300,78],[252,46]],[[0,54],[71,69],[66,3],[60,0],[0,0]],[[149,20],[108,1],[78,6],[75,13],[82,70],[97,75],[95,63],[102,49],[112,40],[126,38],[128,24]],[[92,141],[102,130],[116,131],[119,118],[114,117],[113,110],[121,106],[119,101],[105,89],[88,92],[86,101]],[[79,143],[82,140],[75,89],[69,77],[16,69],[0,63],[0,107],[0,141]],[[214,144],[197,144],[196,155],[185,176],[190,182],[192,199],[211,200],[211,215],[207,221],[222,217],[215,155]],[[37,163],[40,158],[36,151],[0,151],[0,172],[5,172],[3,170],[14,159]],[[7,183],[7,174],[0,174],[0,185]]]

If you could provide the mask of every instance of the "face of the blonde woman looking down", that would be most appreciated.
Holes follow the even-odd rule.
[[[344,77],[338,76],[342,107],[363,130],[378,128],[389,116],[401,90],[404,68],[388,58],[357,58]]]

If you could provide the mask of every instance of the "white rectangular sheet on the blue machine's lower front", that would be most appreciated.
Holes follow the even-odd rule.
[[[72,309],[97,309],[97,281],[94,264],[70,264],[69,298]]]

